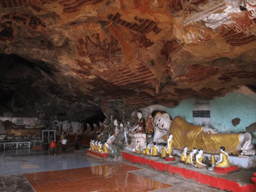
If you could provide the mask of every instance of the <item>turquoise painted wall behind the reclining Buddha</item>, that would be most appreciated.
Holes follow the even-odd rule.
[[[196,105],[195,103],[207,104]],[[193,110],[210,110],[211,118],[193,118]],[[189,123],[211,127],[219,133],[245,132],[247,126],[256,122],[256,94],[244,95],[233,92],[211,101],[185,99],[175,108],[165,107],[165,111],[172,118],[181,116]],[[237,126],[231,123],[234,118],[241,119]]]

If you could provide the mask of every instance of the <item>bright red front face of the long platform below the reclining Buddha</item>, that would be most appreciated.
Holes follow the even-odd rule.
[[[209,187],[221,189],[221,190],[233,191],[233,192],[256,191],[256,185],[254,183],[247,184],[245,186],[240,186],[240,184],[237,183],[236,181],[231,181],[231,180],[227,180],[219,177],[214,177],[211,175],[206,175],[206,174],[188,170],[185,168],[176,167],[174,165],[169,165],[169,164],[153,161],[150,159],[146,159],[144,157],[132,155],[126,152],[122,152],[122,158],[123,160],[131,163],[147,165],[157,171],[165,171],[170,174],[181,175],[186,179],[192,179],[197,183],[207,185]]]

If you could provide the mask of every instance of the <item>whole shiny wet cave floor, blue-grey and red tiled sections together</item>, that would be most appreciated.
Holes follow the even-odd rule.
[[[0,165],[1,192],[218,191],[123,161],[95,159],[86,150],[55,157],[44,150],[6,150]]]

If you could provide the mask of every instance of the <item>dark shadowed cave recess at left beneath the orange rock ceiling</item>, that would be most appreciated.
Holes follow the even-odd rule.
[[[0,60],[0,116],[49,121],[57,115],[59,120],[88,122],[91,126],[104,121],[99,106],[76,98],[68,86],[50,79],[58,70],[47,63],[33,63],[13,54],[0,54]]]

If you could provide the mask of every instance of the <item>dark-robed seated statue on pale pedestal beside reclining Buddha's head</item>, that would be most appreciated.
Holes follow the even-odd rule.
[[[136,147],[136,144],[138,141],[140,142],[140,147],[144,147],[146,142],[146,134],[145,134],[146,123],[145,123],[145,119],[142,117],[142,112],[140,110],[137,112],[137,117],[138,117],[138,120],[136,121],[131,132],[128,134],[131,137],[131,143],[129,147],[132,147],[132,148]]]

